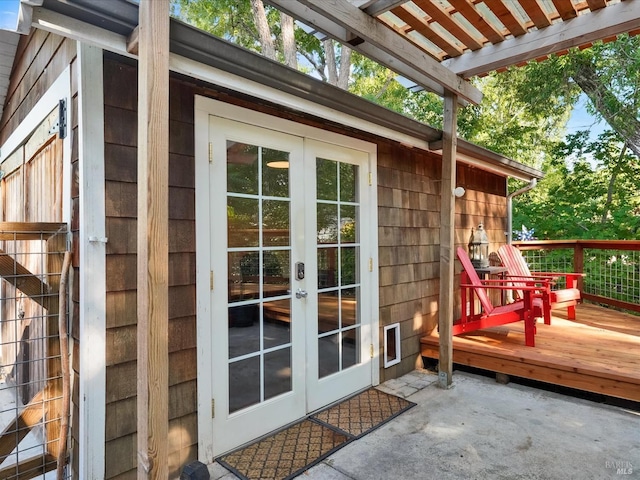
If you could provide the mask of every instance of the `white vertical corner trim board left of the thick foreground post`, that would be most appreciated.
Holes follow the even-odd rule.
[[[102,50],[78,42],[80,184],[79,478],[105,472],[106,241]],[[91,271],[89,268],[91,265]]]

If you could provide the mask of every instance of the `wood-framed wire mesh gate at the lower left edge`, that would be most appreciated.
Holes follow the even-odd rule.
[[[44,225],[54,230],[0,230],[0,478],[7,480],[56,478],[61,451],[66,228]]]

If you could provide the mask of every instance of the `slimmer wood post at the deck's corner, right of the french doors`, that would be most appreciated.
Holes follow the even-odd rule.
[[[451,386],[453,373],[453,266],[455,262],[455,198],[458,98],[445,92],[442,138],[442,182],[440,184],[440,336],[439,379],[442,388]],[[464,306],[463,306],[464,308]]]

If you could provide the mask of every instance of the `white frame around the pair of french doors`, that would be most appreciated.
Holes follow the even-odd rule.
[[[366,152],[369,157],[368,178],[371,184],[371,206],[364,214],[369,215],[369,231],[363,232],[371,239],[370,251],[361,255],[371,259],[370,272],[371,298],[371,342],[373,358],[371,362],[371,380],[379,383],[379,308],[378,308],[378,211],[377,211],[377,156],[376,145],[344,135],[325,132],[321,129],[284,120],[278,117],[249,110],[246,108],[219,102],[196,95],[195,98],[195,184],[196,184],[196,298],[197,298],[197,334],[198,342],[198,456],[205,463],[214,460],[212,399],[213,385],[209,375],[212,365],[210,340],[212,325],[210,295],[211,284],[216,282],[211,274],[210,234],[210,178],[209,178],[209,116],[215,115],[230,120],[259,127],[268,126],[272,130],[297,135],[305,139],[332,143],[345,148]],[[223,281],[220,279],[219,281]]]

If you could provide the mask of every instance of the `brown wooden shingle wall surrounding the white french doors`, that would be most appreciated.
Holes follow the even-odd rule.
[[[135,65],[105,57],[105,173],[107,206],[107,418],[106,478],[135,478],[136,451],[136,215]],[[197,457],[194,95],[277,115],[378,145],[380,319],[401,324],[400,364],[381,369],[381,381],[421,365],[419,339],[437,324],[439,289],[439,155],[322,123],[175,76],[170,84],[169,415],[170,469]],[[456,242],[484,221],[490,236],[504,230],[506,181],[466,166],[467,189],[456,200]],[[485,192],[485,193],[480,193]],[[458,211],[458,209],[460,209]],[[485,218],[497,212],[498,218]],[[502,234],[502,233],[501,233]]]

